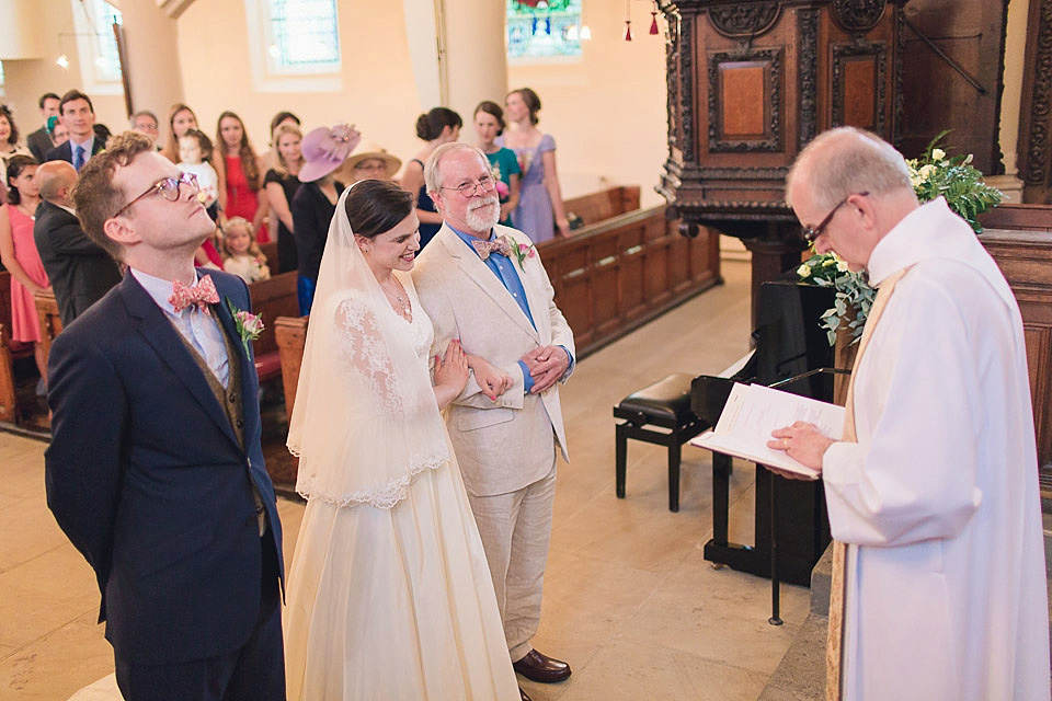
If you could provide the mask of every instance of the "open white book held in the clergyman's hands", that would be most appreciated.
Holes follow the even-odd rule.
[[[716,428],[693,438],[690,444],[815,479],[816,471],[767,447],[770,432],[798,421],[812,423],[826,436],[839,438],[844,433],[844,407],[763,384],[736,382]]]

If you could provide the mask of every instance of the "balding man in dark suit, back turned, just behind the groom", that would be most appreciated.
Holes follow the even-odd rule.
[[[73,166],[66,161],[48,161],[36,169],[34,180],[41,189],[41,206],[36,208],[33,240],[65,327],[121,281],[121,269],[80,228],[69,199],[77,184]]]

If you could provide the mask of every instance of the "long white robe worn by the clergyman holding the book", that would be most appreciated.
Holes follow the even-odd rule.
[[[912,266],[912,267],[910,267]],[[857,443],[823,479],[848,543],[846,699],[1049,699],[1049,616],[1022,322],[939,198],[873,250],[899,280],[855,379]]]

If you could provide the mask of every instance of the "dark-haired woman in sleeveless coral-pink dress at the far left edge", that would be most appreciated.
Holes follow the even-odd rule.
[[[34,344],[43,379],[47,367],[33,294],[49,289],[50,283],[33,241],[36,206],[41,204],[39,189],[33,182],[36,165],[32,156],[14,156],[8,161],[8,204],[0,207],[0,262],[11,273],[11,338]]]

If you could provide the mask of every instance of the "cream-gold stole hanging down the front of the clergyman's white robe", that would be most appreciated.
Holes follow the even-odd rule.
[[[844,443],[856,443],[855,434],[855,377],[859,363],[866,354],[866,347],[873,335],[873,329],[880,321],[880,315],[888,304],[888,299],[894,291],[895,284],[910,268],[903,268],[884,280],[877,291],[877,299],[869,310],[862,338],[858,343],[858,353],[855,355],[855,367],[851,370],[851,380],[847,384],[847,401],[844,403]],[[838,540],[833,541],[833,576],[830,584],[830,630],[825,647],[825,698],[826,701],[839,701],[844,698],[844,607],[847,602],[847,544]]]

